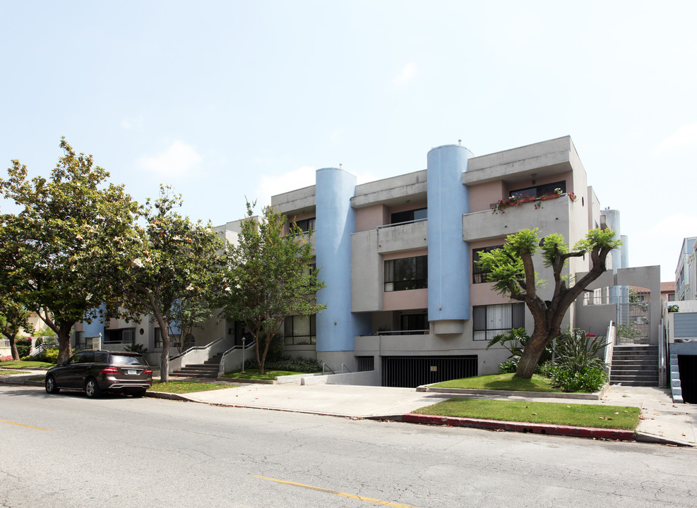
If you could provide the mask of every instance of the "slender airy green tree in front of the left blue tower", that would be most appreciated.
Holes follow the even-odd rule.
[[[326,306],[314,295],[324,287],[319,269],[311,270],[311,231],[303,233],[290,224],[284,234],[286,217],[273,207],[263,209],[256,220],[254,204],[247,202],[237,246],[227,248],[227,287],[222,291],[222,312],[240,320],[256,341],[256,360],[261,373],[269,345],[291,315],[309,316]],[[263,344],[262,344],[263,343]]]

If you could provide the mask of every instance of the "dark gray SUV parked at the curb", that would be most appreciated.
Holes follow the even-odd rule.
[[[46,392],[84,390],[88,397],[104,392],[143,397],[153,385],[153,369],[143,355],[116,351],[80,351],[46,373]]]

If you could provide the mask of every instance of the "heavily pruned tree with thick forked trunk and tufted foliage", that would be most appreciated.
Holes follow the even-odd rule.
[[[610,229],[591,229],[578,241],[573,251],[560,234],[551,234],[540,241],[539,229],[521,229],[508,235],[503,248],[480,255],[478,264],[489,272],[489,282],[502,296],[522,301],[530,309],[535,325],[530,341],[525,345],[516,376],[530,379],[544,348],[561,333],[561,322],[573,301],[583,293],[588,284],[606,270],[607,255],[621,246]],[[546,284],[538,279],[532,257],[540,250],[544,266],[552,270],[554,289],[552,298],[543,300],[537,290]],[[590,255],[591,268],[583,277],[571,282],[563,270],[568,260]]]

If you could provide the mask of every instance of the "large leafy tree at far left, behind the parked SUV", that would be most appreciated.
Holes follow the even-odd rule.
[[[75,322],[97,317],[106,301],[103,267],[138,210],[123,186],[105,186],[109,173],[91,155],[76,155],[64,138],[60,146],[48,179],[29,179],[18,160],[0,179],[0,194],[21,209],[0,215],[0,287],[56,332],[59,363]]]

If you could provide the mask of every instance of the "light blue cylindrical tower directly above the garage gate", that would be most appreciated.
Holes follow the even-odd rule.
[[[463,171],[471,156],[460,145],[428,153],[429,321],[470,319],[470,247],[463,241],[470,203]]]

